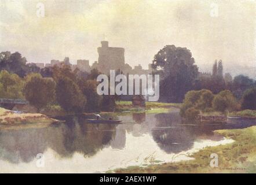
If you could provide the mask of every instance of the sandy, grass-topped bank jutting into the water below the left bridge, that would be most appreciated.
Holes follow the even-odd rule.
[[[11,110],[0,108],[0,129],[9,126],[23,126],[28,124],[52,124],[58,120],[40,113],[15,113]]]

